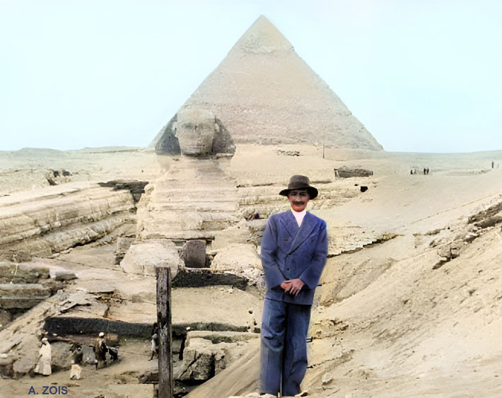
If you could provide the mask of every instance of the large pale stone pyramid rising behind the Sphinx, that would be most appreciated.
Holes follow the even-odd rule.
[[[183,106],[214,112],[238,143],[383,149],[264,16]]]

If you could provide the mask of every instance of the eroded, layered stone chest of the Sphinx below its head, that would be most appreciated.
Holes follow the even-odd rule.
[[[225,160],[221,160],[225,161]],[[147,185],[137,211],[138,240],[212,240],[238,223],[236,182],[220,160],[184,156]]]

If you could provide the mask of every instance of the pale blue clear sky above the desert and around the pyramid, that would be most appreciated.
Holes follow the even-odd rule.
[[[148,145],[260,14],[387,151],[502,149],[502,1],[0,0],[0,151]]]

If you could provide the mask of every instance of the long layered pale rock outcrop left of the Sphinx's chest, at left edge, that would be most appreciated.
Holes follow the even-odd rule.
[[[0,204],[0,252],[47,257],[134,222],[129,191],[89,183],[19,192],[0,198]]]

